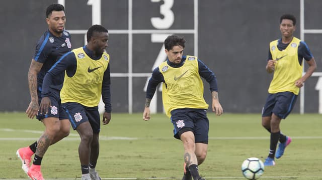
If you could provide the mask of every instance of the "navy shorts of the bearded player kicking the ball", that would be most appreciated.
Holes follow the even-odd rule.
[[[209,120],[206,109],[175,109],[171,111],[174,137],[180,139],[182,133],[192,131],[195,142],[208,144]]]

